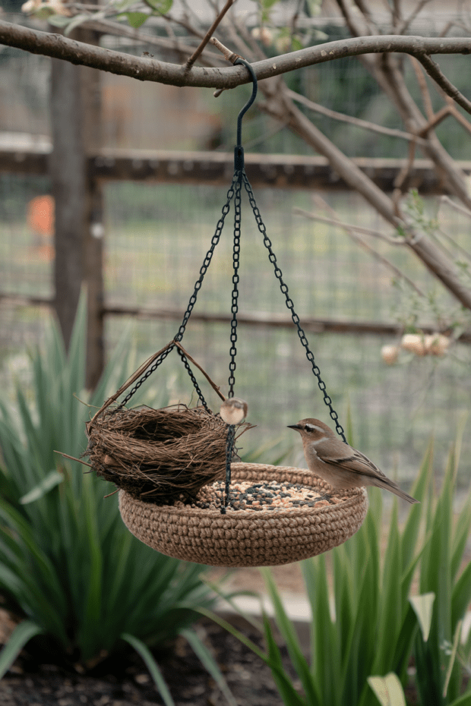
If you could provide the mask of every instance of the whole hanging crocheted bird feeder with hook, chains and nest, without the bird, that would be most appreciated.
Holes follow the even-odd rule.
[[[249,70],[253,91],[237,119],[234,177],[183,321],[174,339],[145,361],[88,421],[88,447],[84,455],[88,455],[98,476],[119,489],[119,510],[126,527],[153,549],[210,566],[275,566],[321,554],[345,542],[362,525],[368,501],[365,489],[335,493],[331,486],[306,469],[238,460],[235,442],[251,427],[243,421],[247,414],[246,403],[234,397],[242,186],[249,196],[263,244],[268,249],[275,277],[323,400],[337,432],[343,441],[346,439],[294,311],[246,177],[241,144],[242,116],[255,100],[257,80],[244,59],[236,57],[233,63],[243,64]],[[234,275],[226,398],[208,373],[186,352],[181,340],[233,198]],[[198,405],[193,409],[181,404],[165,409],[127,408],[133,394],[173,350],[189,373]],[[203,373],[221,398],[223,404],[217,414],[208,407],[191,364]],[[131,385],[124,400],[117,402]]]

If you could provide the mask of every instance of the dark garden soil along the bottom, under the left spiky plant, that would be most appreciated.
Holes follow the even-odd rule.
[[[262,646],[258,633],[232,623]],[[240,706],[282,706],[270,669],[239,640],[203,619],[195,626]],[[225,706],[227,700],[184,638],[155,653],[176,706]],[[296,685],[288,659],[286,669]],[[127,649],[89,674],[78,674],[23,651],[0,681],[1,706],[149,706],[162,704],[145,664]]]

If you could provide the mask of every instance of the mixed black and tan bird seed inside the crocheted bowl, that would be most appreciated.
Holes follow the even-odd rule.
[[[191,502],[177,501],[175,507],[201,508],[203,510],[220,510],[224,497],[224,481],[203,486],[196,498]],[[312,488],[299,483],[279,483],[265,481],[253,483],[237,481],[229,486],[227,510],[288,510],[290,508],[321,508],[323,505],[336,505],[342,500],[339,496],[327,493],[319,495]]]

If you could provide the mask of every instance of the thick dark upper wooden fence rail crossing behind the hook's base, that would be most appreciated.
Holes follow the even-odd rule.
[[[37,147],[6,144],[0,140],[0,172],[48,174],[51,145],[42,140]],[[393,191],[405,160],[357,157],[353,160],[383,191]],[[252,186],[274,189],[328,189],[346,191],[324,157],[304,155],[245,155]],[[471,162],[456,162],[471,174]],[[153,181],[167,184],[225,185],[234,172],[231,152],[174,152],[169,150],[118,150],[101,148],[87,158],[90,179],[103,181]],[[422,194],[447,193],[446,184],[430,160],[415,160],[405,188]]]

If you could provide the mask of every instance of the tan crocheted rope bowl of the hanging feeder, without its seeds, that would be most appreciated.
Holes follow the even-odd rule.
[[[299,468],[232,463],[232,482],[299,483],[322,494],[324,481]],[[144,544],[167,556],[208,566],[278,566],[322,554],[357,532],[366,516],[365,489],[319,508],[228,511],[154,505],[119,491],[124,524]]]

